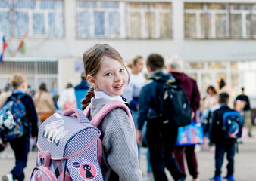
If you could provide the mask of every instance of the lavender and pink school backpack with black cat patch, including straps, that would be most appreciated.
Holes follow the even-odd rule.
[[[103,180],[101,173],[101,131],[97,126],[112,109],[130,110],[124,103],[114,100],[107,103],[89,122],[90,106],[83,113],[69,109],[47,118],[39,127],[36,167],[30,181]],[[76,117],[70,116],[73,113]],[[131,121],[133,121],[131,119]]]

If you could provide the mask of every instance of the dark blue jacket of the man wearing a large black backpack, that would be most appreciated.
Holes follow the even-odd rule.
[[[168,76],[173,78],[172,75],[166,75],[163,72],[157,72],[155,74],[151,74],[152,76]],[[149,78],[150,78],[149,77]],[[155,111],[156,105],[158,103],[157,100],[157,87],[158,83],[156,81],[149,81],[148,84],[145,84],[142,87],[142,90],[139,94],[139,113],[138,113],[138,130],[142,130],[143,124],[146,120],[158,118],[158,114]]]

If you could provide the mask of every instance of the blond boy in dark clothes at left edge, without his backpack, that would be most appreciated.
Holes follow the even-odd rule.
[[[10,83],[13,88],[11,97],[17,97],[21,100],[25,106],[26,115],[21,119],[23,122],[23,136],[9,140],[11,149],[14,150],[15,166],[10,173],[2,177],[2,180],[22,181],[25,178],[23,169],[27,166],[27,156],[30,151],[30,133],[33,139],[36,139],[37,136],[37,115],[32,98],[25,94],[27,91],[27,78],[22,74],[14,74],[11,77]],[[8,100],[6,103],[8,103]]]

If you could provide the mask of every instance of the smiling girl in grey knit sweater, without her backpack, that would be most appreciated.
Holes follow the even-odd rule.
[[[83,55],[87,81],[92,88],[83,100],[91,102],[90,118],[109,101],[120,100],[126,84],[126,67],[120,54],[108,44],[95,44]],[[113,109],[99,124],[102,141],[101,171],[104,180],[142,180],[136,132],[123,109]]]

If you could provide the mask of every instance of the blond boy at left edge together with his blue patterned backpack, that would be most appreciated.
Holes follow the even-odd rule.
[[[27,91],[27,78],[24,77],[24,75],[21,74],[14,74],[10,79],[11,86],[13,87],[13,92],[11,94],[11,97],[8,97],[8,99],[5,101],[4,106],[1,110],[5,109],[7,110],[5,112],[5,115],[8,114],[8,119],[1,119],[1,127],[10,127],[11,124],[8,124],[10,122],[11,118],[20,118],[20,127],[23,128],[23,130],[17,130],[17,132],[20,132],[22,136],[14,137],[13,132],[6,133],[3,135],[2,132],[2,140],[5,144],[8,142],[11,145],[11,149],[14,150],[15,155],[15,166],[11,170],[10,173],[5,174],[2,176],[2,180],[9,181],[9,180],[19,180],[22,181],[25,178],[23,169],[27,166],[27,156],[30,151],[30,134],[31,136],[36,139],[37,135],[37,115],[36,115],[36,109],[33,103],[32,98],[25,94]],[[12,106],[11,109],[8,109],[8,105],[16,105]],[[14,103],[15,102],[15,103]],[[22,113],[20,116],[19,114]],[[30,125],[31,125],[31,131],[30,131]],[[5,137],[6,136],[6,137]],[[10,140],[9,140],[10,139]]]

